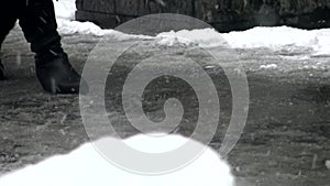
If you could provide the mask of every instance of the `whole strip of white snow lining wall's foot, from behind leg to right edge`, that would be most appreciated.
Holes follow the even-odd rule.
[[[111,35],[119,40],[145,37],[129,35],[113,30],[102,30],[90,22],[78,22],[75,19],[75,0],[55,1],[58,30],[62,34]],[[330,55],[330,29],[300,30],[288,26],[254,28],[243,32],[219,33],[212,29],[161,33],[156,36],[162,45],[199,44],[201,47],[226,46],[235,48],[267,47],[275,51],[283,47],[307,47],[314,50],[312,55]],[[187,42],[189,41],[189,42]]]

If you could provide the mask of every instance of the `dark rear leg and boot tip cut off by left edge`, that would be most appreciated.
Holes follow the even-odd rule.
[[[13,9],[13,6],[10,3],[0,4],[0,52],[1,52],[1,45],[10,32],[12,28],[15,25],[16,22],[16,15],[14,14],[14,11],[8,11]],[[4,10],[7,9],[7,10]],[[6,13],[4,13],[6,12]],[[0,80],[4,79],[4,67],[1,63],[1,57],[0,57]]]

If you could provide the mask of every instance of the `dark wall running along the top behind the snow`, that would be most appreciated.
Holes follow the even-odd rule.
[[[221,32],[256,25],[330,26],[330,0],[77,0],[76,18],[102,28],[152,13],[198,18]]]

